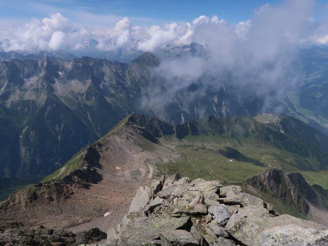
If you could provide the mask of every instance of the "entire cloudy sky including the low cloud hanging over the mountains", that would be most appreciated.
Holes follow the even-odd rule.
[[[154,71],[165,77],[173,94],[198,81],[217,88],[230,81],[280,98],[299,83],[293,73],[297,47],[328,44],[327,3],[0,0],[0,51],[94,55],[119,50],[155,52],[197,43],[206,56],[162,60]],[[144,101],[158,105],[167,103],[166,98],[159,92]]]

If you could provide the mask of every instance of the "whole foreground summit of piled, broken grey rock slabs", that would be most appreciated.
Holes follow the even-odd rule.
[[[173,175],[139,187],[104,245],[328,245],[328,228],[290,215],[239,186]]]

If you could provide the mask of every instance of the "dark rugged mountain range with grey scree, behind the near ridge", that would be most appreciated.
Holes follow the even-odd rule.
[[[142,105],[145,95],[167,92],[163,80],[151,74],[158,65],[151,53],[129,65],[90,57],[0,63],[0,175],[42,178],[132,112],[179,124],[202,114],[232,117],[262,110],[262,98],[252,93],[240,98],[232,86],[208,88],[207,95],[189,101],[191,88],[172,95],[166,106]]]

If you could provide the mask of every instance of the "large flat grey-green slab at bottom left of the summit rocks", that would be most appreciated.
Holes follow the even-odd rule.
[[[160,236],[160,232],[177,230],[185,227],[190,220],[190,216],[179,218],[166,217],[146,217],[135,219],[117,237],[117,245],[142,245]]]

